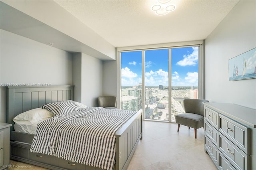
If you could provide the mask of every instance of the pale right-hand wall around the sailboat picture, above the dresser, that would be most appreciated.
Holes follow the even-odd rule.
[[[256,1],[241,0],[205,40],[206,99],[256,109],[256,79],[228,80],[228,59],[256,47]]]

